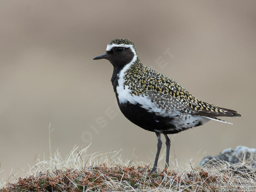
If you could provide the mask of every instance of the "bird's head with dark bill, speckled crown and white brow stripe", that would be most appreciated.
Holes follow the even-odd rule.
[[[137,58],[134,43],[129,39],[117,38],[109,42],[106,53],[93,59],[108,59],[113,66],[122,67],[136,61]]]

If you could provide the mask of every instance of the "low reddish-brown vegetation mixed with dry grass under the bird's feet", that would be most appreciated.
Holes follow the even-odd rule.
[[[202,170],[185,176],[175,171],[167,172],[166,169],[153,175],[148,172],[148,166],[135,168],[117,165],[110,168],[105,164],[83,170],[55,170],[19,178],[1,191],[124,191],[157,187],[191,191],[195,190],[195,186],[199,191],[215,190],[210,183],[215,182],[216,178]]]

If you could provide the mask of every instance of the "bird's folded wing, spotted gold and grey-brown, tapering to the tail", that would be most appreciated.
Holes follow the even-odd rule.
[[[241,116],[234,110],[202,102],[186,91],[174,80],[162,76],[159,79],[148,79],[144,84],[146,94],[163,110],[179,110],[181,112],[206,117]]]

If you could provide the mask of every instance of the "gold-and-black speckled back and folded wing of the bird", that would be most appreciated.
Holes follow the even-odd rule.
[[[162,110],[178,110],[209,117],[240,116],[236,111],[203,102],[177,82],[143,65],[139,59],[125,72],[124,86],[130,94],[150,97]]]

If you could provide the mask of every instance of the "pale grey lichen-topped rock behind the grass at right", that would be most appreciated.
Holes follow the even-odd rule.
[[[200,162],[201,167],[208,165],[215,165],[223,161],[236,164],[239,162],[247,161],[253,167],[256,166],[256,149],[248,148],[245,146],[237,146],[235,149],[224,149],[220,154],[216,156],[206,156]]]

